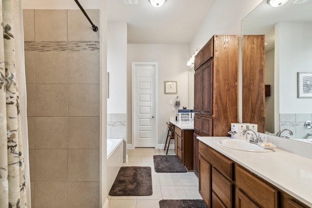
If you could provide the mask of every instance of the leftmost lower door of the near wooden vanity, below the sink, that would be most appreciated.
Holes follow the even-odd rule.
[[[199,193],[207,207],[211,205],[211,165],[198,156]]]

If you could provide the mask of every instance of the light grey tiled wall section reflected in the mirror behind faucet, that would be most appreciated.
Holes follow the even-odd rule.
[[[306,129],[304,122],[312,120],[312,113],[280,113],[279,125],[280,129],[290,129],[293,135],[289,135],[288,132],[283,132],[283,136],[289,136],[290,138],[312,138],[308,133],[312,133],[312,129]],[[276,133],[276,132],[275,132]]]

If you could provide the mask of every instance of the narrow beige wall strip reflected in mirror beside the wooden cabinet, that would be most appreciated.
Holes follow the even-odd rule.
[[[271,96],[265,97],[265,131],[274,133],[274,50],[265,54],[265,84],[271,85]]]

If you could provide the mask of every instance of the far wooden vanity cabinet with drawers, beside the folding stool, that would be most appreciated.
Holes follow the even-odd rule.
[[[182,130],[177,126],[175,131],[175,153],[186,170],[194,170],[194,130]]]

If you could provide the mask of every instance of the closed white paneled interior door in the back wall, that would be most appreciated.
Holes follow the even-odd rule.
[[[156,144],[157,63],[132,63],[132,142],[133,147]]]

